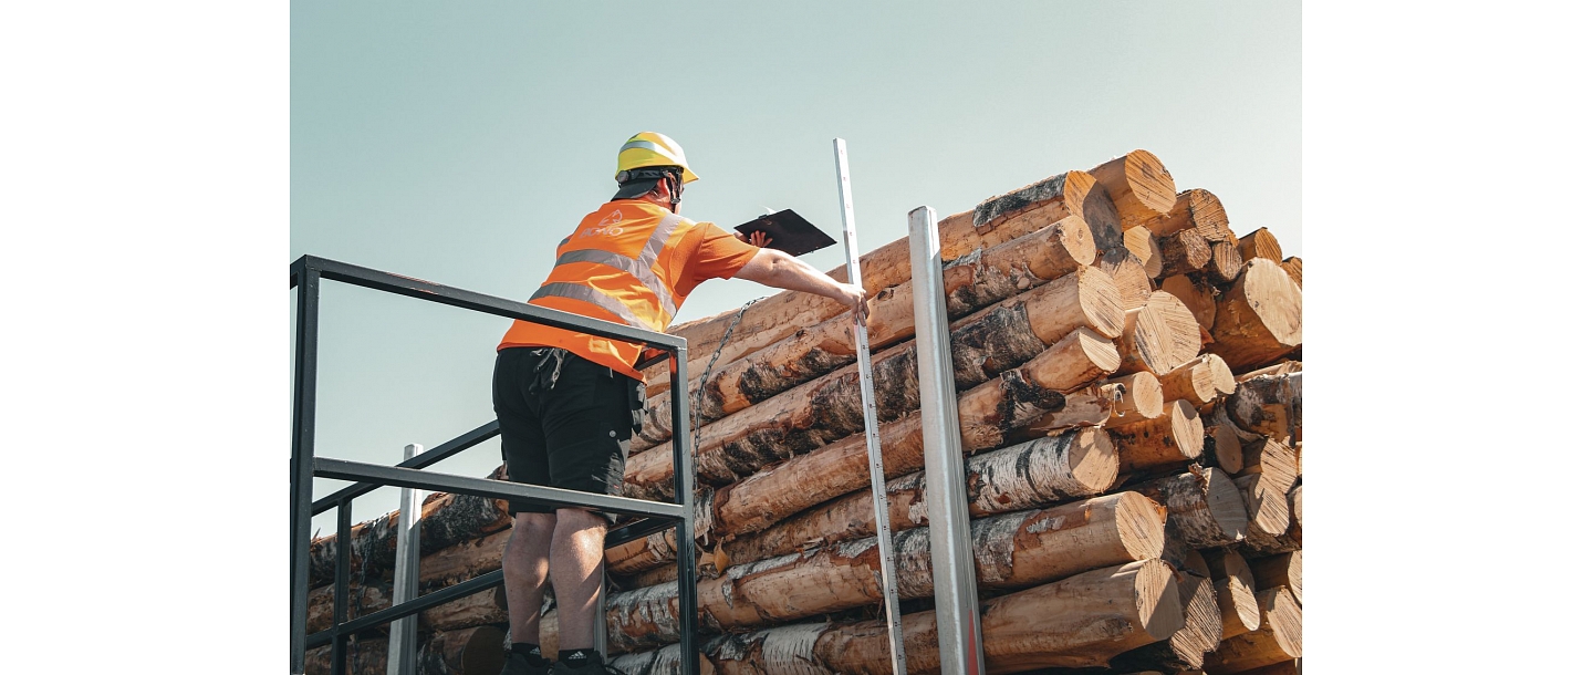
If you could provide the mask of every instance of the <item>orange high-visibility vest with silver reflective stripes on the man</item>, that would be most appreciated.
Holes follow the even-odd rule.
[[[613,201],[581,218],[564,237],[558,263],[530,304],[663,333],[685,296],[675,293],[680,242],[696,223],[642,201]],[[516,320],[503,347],[562,347],[581,358],[642,379],[640,344]]]

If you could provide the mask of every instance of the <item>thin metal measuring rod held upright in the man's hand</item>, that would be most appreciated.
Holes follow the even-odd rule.
[[[857,261],[857,224],[852,221],[852,178],[846,169],[846,140],[835,139],[835,180],[841,186],[841,234],[846,242],[846,279],[863,285]],[[890,632],[890,670],[906,675],[906,645],[902,642],[902,605],[897,600],[895,540],[890,536],[890,501],[886,498],[886,463],[879,451],[879,414],[875,411],[875,365],[868,353],[868,326],[852,317],[857,345],[857,376],[863,396],[863,431],[868,439],[868,478],[875,492],[875,532],[879,548],[879,584],[886,595],[886,627]]]

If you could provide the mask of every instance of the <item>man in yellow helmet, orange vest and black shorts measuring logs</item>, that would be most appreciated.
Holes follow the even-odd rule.
[[[816,293],[867,318],[863,288],[841,283],[776,248],[680,217],[698,175],[663,134],[620,148],[613,199],[559,242],[558,261],[530,304],[663,333],[687,296],[709,279],[747,279]],[[636,363],[644,345],[516,320],[497,347],[492,408],[508,479],[618,495],[645,398]],[[593,624],[612,516],[508,501],[503,551],[510,640],[502,675],[602,673]],[[537,626],[546,583],[559,600],[559,654],[542,654]],[[551,667],[550,667],[551,665]]]

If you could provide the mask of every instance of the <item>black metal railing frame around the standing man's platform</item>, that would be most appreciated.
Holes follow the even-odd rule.
[[[483,478],[454,476],[421,471],[436,462],[470,449],[499,435],[497,422],[484,423],[441,446],[400,462],[397,466],[373,465],[315,457],[315,358],[317,320],[320,310],[320,282],[335,280],[386,293],[441,302],[473,312],[505,318],[521,318],[554,328],[564,328],[594,336],[639,342],[664,352],[650,361],[669,361],[669,392],[674,412],[674,460],[675,503],[632,500],[624,497],[596,495],[588,492],[559,490],[553,487],[523,486],[516,482]],[[491,572],[462,584],[421,595],[358,619],[349,619],[349,505],[381,486],[416,487],[436,492],[452,492],[489,498],[521,498],[553,506],[589,506],[597,511],[642,516],[642,521],[609,532],[607,544],[620,544],[655,532],[675,527],[675,570],[680,594],[680,667],[685,675],[698,675],[696,654],[696,546],[691,495],[696,470],[691,458],[691,430],[687,425],[687,341],[664,333],[652,333],[621,323],[558,312],[527,302],[494,298],[460,288],[451,288],[421,279],[381,272],[327,258],[303,256],[288,266],[288,287],[298,290],[298,333],[295,336],[296,365],[293,373],[293,457],[288,466],[290,489],[290,659],[292,675],[304,673],[304,651],[331,643],[331,672],[344,675],[347,638],[358,630],[422,610],[491,589],[503,581],[503,572]],[[315,478],[358,481],[320,500],[311,500]],[[314,635],[306,635],[309,611],[309,521],[314,514],[338,509],[338,570],[333,594],[333,626]]]

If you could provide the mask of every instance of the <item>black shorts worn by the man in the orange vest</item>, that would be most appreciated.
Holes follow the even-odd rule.
[[[640,396],[640,382],[562,349],[500,349],[492,409],[508,479],[618,495]],[[508,511],[553,513],[554,506],[510,500]]]

